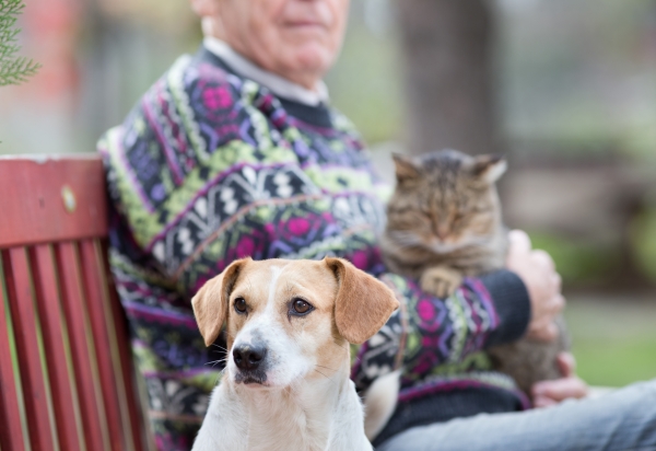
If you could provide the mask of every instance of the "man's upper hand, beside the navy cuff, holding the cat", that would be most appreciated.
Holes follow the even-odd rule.
[[[561,294],[561,277],[549,254],[531,248],[530,239],[525,232],[513,230],[508,238],[511,246],[506,266],[524,281],[530,298],[531,319],[527,336],[552,342],[559,334],[553,320],[565,307],[565,299]]]

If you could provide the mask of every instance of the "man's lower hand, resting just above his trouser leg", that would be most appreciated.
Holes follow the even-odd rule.
[[[570,352],[561,352],[558,356],[558,366],[561,379],[553,381],[537,382],[531,388],[534,406],[549,407],[567,398],[581,398],[587,396],[587,384],[576,377],[576,361]]]

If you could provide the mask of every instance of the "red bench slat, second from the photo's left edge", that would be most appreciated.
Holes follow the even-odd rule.
[[[34,451],[52,450],[55,437],[48,416],[48,394],[39,358],[37,323],[25,250],[19,247],[2,252],[2,265],[14,324],[30,441]]]

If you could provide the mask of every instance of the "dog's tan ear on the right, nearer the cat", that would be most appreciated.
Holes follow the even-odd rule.
[[[374,336],[399,307],[394,292],[379,280],[341,258],[325,258],[337,277],[335,322],[349,343]]]

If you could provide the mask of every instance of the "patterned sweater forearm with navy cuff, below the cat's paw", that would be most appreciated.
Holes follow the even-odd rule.
[[[352,378],[360,390],[398,368],[407,384],[436,373],[487,369],[484,349],[518,339],[528,325],[528,292],[507,270],[467,278],[446,299],[398,275],[379,278],[395,291],[401,308],[359,349]]]

